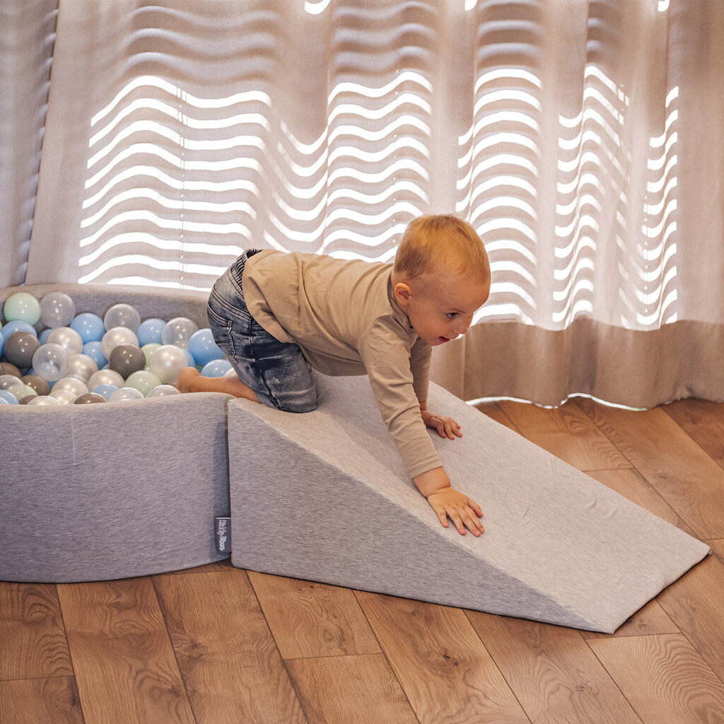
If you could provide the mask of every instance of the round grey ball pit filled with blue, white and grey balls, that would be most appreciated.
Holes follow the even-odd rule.
[[[15,403],[0,402],[0,439],[9,453],[0,471],[0,580],[99,581],[228,557],[216,552],[213,519],[229,513],[230,397],[216,392],[180,395],[146,369],[153,350],[161,347],[168,321],[188,319],[193,331],[208,327],[208,295],[112,285],[33,285],[0,289],[0,309],[18,293],[38,300],[41,316],[33,325],[1,318],[0,335],[7,341],[5,329],[12,324],[12,332],[30,332],[40,346],[28,369],[0,357],[0,373],[17,380],[17,385],[9,384],[22,399],[18,404],[19,397],[4,390]],[[52,296],[43,305],[47,295]],[[28,298],[25,303],[33,306]],[[130,384],[103,369],[107,358],[100,355],[101,340],[111,330],[99,328],[97,319],[117,304],[138,311],[136,331],[148,322],[146,336],[137,337],[122,325],[111,330],[125,329],[133,334],[130,341],[156,345],[141,350],[144,369],[136,372],[147,374]],[[33,313],[26,316],[33,319]],[[43,329],[48,321],[54,326]],[[190,339],[192,327],[183,329]],[[47,342],[57,330],[76,346],[79,336],[80,352],[69,354],[63,345]],[[121,343],[117,336],[114,342]],[[177,349],[188,363],[188,349]],[[119,392],[124,399],[111,402]],[[27,453],[31,448],[32,455]],[[13,454],[20,450],[22,455]]]

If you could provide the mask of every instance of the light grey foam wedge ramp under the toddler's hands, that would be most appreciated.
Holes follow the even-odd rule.
[[[230,402],[237,567],[612,633],[709,551],[431,385],[429,408],[463,425],[434,437],[442,462],[485,513],[479,538],[444,529],[367,379],[319,386],[303,415]]]

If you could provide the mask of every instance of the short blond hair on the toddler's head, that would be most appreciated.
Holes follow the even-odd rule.
[[[407,279],[436,271],[489,279],[490,264],[471,224],[452,214],[418,216],[408,225],[395,255],[395,271]]]

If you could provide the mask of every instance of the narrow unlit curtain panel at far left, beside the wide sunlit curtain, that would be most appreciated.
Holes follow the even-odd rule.
[[[25,278],[57,8],[0,2],[0,286]]]

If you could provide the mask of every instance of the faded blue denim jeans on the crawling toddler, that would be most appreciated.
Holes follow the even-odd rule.
[[[244,300],[241,279],[248,255],[243,252],[209,295],[206,312],[216,344],[259,402],[287,412],[316,408],[317,390],[311,368],[295,344],[279,342],[253,319]]]

